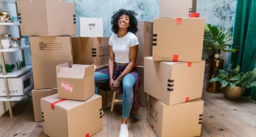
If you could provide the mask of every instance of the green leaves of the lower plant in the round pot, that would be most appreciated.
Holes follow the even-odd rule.
[[[250,72],[240,72],[240,66],[237,65],[235,69],[227,69],[227,71],[219,70],[219,73],[216,77],[210,79],[211,82],[220,82],[221,88],[226,86],[230,86],[234,88],[235,86],[239,86],[242,88],[252,88],[256,86],[256,81],[254,80],[256,77],[256,68]]]

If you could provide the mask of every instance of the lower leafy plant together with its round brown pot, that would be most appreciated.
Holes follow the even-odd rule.
[[[219,70],[219,73],[210,79],[209,82],[220,82],[226,98],[236,100],[242,96],[245,88],[256,86],[256,68],[250,72],[239,72],[240,66],[235,69]]]

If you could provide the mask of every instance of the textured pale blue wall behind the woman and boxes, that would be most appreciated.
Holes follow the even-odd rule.
[[[111,32],[111,16],[118,9],[131,9],[137,12],[139,21],[153,21],[159,17],[159,0],[66,0],[76,4],[77,35],[79,35],[79,17],[102,17],[104,36]],[[236,0],[197,0],[197,12],[206,17],[206,23],[232,29]],[[30,52],[26,51],[26,64],[31,64]],[[228,54],[222,54],[227,60]],[[205,58],[205,55],[204,55]],[[226,61],[227,62],[227,61]]]

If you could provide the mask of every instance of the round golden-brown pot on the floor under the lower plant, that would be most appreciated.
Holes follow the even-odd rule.
[[[225,98],[229,100],[237,100],[243,95],[244,88],[235,86],[234,88],[230,89],[230,87],[227,86],[223,89],[223,92],[224,92]]]

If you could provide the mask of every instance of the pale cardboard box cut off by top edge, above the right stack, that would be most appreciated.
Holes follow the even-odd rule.
[[[159,17],[189,17],[196,12],[196,0],[160,0]]]

